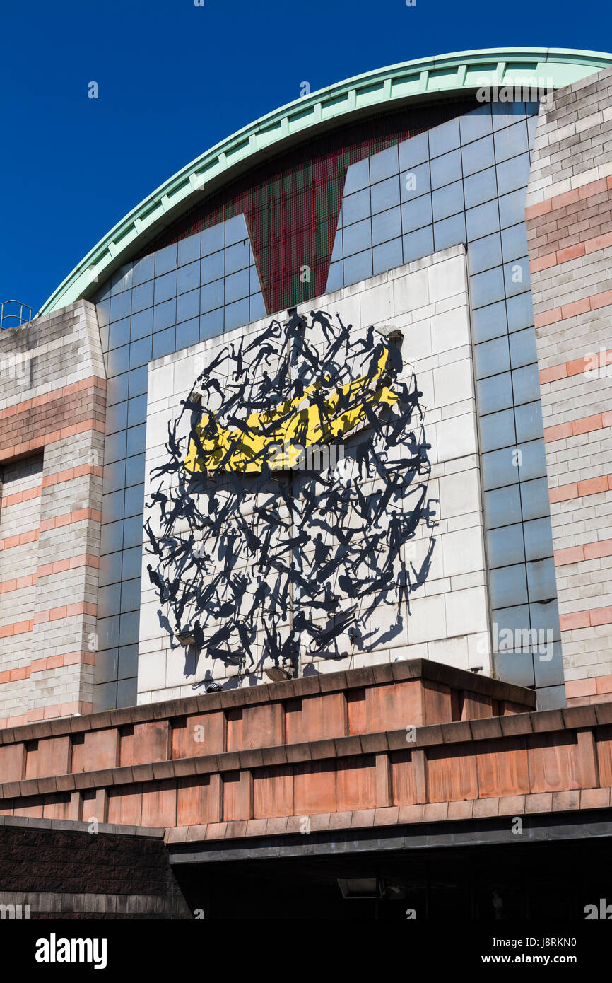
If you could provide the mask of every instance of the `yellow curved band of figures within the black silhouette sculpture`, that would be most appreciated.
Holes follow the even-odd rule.
[[[373,374],[360,376],[321,398],[316,393],[329,383],[322,379],[306,387],[304,394],[269,410],[251,413],[243,427],[220,426],[209,413],[203,413],[185,459],[187,471],[258,472],[266,459],[266,448],[288,448],[286,467],[299,460],[303,448],[328,443],[350,434],[367,422],[367,411],[377,406],[393,406],[398,395],[385,384],[383,376],[389,358],[383,351]],[[295,454],[292,455],[292,444]]]

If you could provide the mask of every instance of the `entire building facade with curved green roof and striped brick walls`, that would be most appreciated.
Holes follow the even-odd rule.
[[[5,817],[163,827],[217,910],[218,840],[305,823],[607,838],[611,93],[548,49],[312,93],[0,335]]]

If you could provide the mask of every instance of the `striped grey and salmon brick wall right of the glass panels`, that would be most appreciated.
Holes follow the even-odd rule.
[[[542,105],[527,197],[568,702],[612,692],[612,71]]]

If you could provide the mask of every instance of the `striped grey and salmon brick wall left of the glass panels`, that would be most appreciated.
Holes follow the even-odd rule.
[[[82,301],[0,335],[0,723],[91,709],[104,440]]]

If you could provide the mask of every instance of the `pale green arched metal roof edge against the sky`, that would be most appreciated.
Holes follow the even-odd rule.
[[[36,315],[49,314],[94,292],[94,285],[174,221],[206,190],[206,184],[227,176],[239,163],[262,150],[275,152],[283,141],[301,136],[310,127],[373,109],[394,101],[417,101],[423,96],[457,94],[489,85],[561,88],[612,65],[612,54],[572,48],[483,48],[417,58],[375,69],[295,99],[196,157],[160,185],[122,218],[73,269]]]

